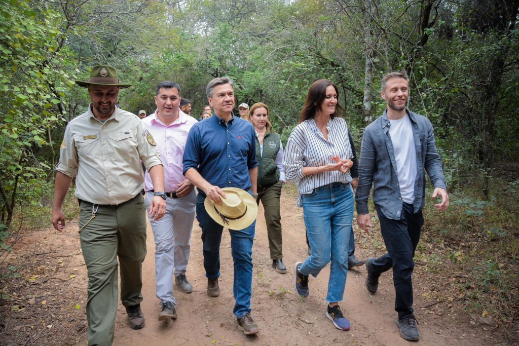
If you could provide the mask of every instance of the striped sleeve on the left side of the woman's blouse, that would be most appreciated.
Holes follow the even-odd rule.
[[[283,166],[285,175],[289,181],[298,183],[303,179],[303,167],[306,165],[305,150],[306,139],[301,128],[295,127],[286,142],[283,154]]]

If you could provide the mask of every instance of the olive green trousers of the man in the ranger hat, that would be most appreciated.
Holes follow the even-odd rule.
[[[121,301],[142,301],[142,262],[146,256],[146,205],[141,195],[118,206],[81,201],[79,233],[88,270],[88,344],[111,345],[117,314],[117,258],[121,267]]]

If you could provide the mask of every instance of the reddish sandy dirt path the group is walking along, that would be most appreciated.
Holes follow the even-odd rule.
[[[302,222],[302,209],[295,207],[295,198],[288,193],[282,196],[283,255],[289,273],[278,274],[271,268],[263,209],[260,205],[253,248],[254,277],[252,316],[261,328],[257,336],[245,336],[237,328],[233,315],[233,266],[230,255],[229,234],[224,231],[221,248],[221,294],[210,298],[206,294],[207,279],[202,265],[201,230],[195,220],[192,253],[187,277],[194,292],[183,294],[175,290],[178,302],[176,321],[165,324],[157,320],[159,300],[155,297],[154,243],[148,225],[148,255],[144,262],[144,301],[146,327],[131,330],[127,326],[124,308],[119,306],[115,345],[241,345],[253,342],[258,345],[402,345],[404,341],[395,326],[394,289],[388,275],[381,278],[379,291],[370,295],[364,286],[364,267],[348,273],[345,301],[342,310],[351,322],[349,331],[340,331],[325,316],[325,296],[329,267],[318,278],[310,278],[310,296],[299,298],[294,292],[292,266],[304,260],[307,247]],[[359,237],[359,234],[357,234]],[[362,235],[361,235],[362,237]],[[357,248],[357,255],[379,255],[370,249]],[[427,302],[415,292],[415,312],[419,320],[421,345],[481,344],[482,339],[471,335],[463,325],[447,315],[431,313]],[[472,330],[474,332],[474,330]]]

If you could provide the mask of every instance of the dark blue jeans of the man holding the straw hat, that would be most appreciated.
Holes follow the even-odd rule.
[[[249,191],[249,193],[251,193]],[[220,242],[224,227],[217,224],[206,211],[206,196],[198,193],[196,218],[202,228],[203,267],[209,279],[220,276]],[[242,230],[229,230],[230,247],[234,262],[233,293],[236,304],[233,313],[241,319],[251,312],[252,297],[252,243],[256,220]]]

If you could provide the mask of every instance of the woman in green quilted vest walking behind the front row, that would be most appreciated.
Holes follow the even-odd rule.
[[[260,201],[265,211],[267,224],[268,247],[272,267],[280,274],[286,273],[283,264],[283,239],[281,236],[281,212],[279,200],[281,187],[286,182],[285,169],[283,167],[283,145],[281,137],[274,132],[272,124],[268,120],[268,107],[258,102],[249,110],[249,121],[256,131],[256,159],[259,164],[257,191],[257,204]]]

